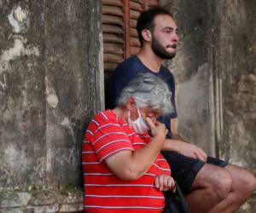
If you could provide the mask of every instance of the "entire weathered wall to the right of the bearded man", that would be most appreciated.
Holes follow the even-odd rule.
[[[179,28],[178,131],[256,174],[256,2],[162,0]],[[256,212],[256,196],[239,212]]]

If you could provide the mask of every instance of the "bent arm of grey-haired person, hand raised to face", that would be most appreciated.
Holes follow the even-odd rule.
[[[134,152],[125,150],[106,159],[108,168],[123,181],[136,180],[143,176],[154,163],[155,158],[165,143],[165,124],[157,123],[157,125],[154,125],[148,119],[150,118],[147,118],[147,122],[153,137],[145,147]]]

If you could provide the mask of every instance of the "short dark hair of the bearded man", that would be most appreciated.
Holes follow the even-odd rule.
[[[144,29],[147,29],[150,32],[154,31],[154,18],[159,14],[167,14],[172,17],[172,14],[166,9],[156,7],[144,11],[137,20],[137,35],[139,37],[140,43],[143,46],[143,35],[142,32]]]

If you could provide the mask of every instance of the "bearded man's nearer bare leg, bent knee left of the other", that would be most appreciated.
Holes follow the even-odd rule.
[[[228,170],[205,164],[195,177],[192,192],[186,197],[191,212],[208,212],[228,196],[231,186],[232,176]]]

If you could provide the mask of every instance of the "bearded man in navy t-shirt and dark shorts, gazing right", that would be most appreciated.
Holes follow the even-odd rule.
[[[122,62],[106,84],[106,105],[115,107],[120,91],[139,72],[151,72],[163,78],[172,91],[175,106],[175,83],[172,73],[162,66],[177,51],[177,25],[165,9],[149,9],[137,20],[137,32],[142,48],[137,55]],[[171,165],[172,176],[182,187],[195,213],[234,212],[256,188],[254,176],[247,170],[227,164],[183,141],[175,129],[177,111],[160,118],[169,130],[164,156]],[[171,151],[171,152],[170,152]]]

